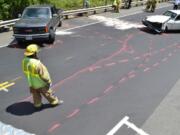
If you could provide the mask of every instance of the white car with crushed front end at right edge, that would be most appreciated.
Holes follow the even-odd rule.
[[[168,10],[162,15],[147,16],[142,23],[158,33],[180,30],[180,10]]]

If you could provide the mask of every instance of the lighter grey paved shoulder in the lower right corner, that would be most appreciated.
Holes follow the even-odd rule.
[[[150,135],[179,135],[179,124],[180,79],[145,122],[142,129]]]

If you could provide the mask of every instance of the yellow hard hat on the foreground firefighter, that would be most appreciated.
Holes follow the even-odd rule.
[[[36,44],[30,44],[26,47],[26,50],[24,52],[25,56],[31,56],[34,53],[37,53],[39,51],[39,48]]]

